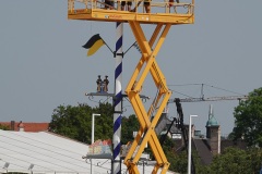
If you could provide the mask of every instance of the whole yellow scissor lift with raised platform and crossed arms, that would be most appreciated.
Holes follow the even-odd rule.
[[[115,9],[115,7],[111,7],[111,10],[109,10],[105,1],[68,0],[69,20],[129,23],[141,49],[142,57],[126,89],[126,94],[131,101],[140,123],[139,133],[124,158],[124,164],[130,174],[139,174],[136,164],[147,142],[156,160],[152,173],[156,174],[162,167],[160,173],[165,174],[169,166],[169,162],[155,133],[155,126],[171,96],[171,91],[168,89],[165,76],[157,65],[156,55],[171,25],[193,24],[194,22],[194,0],[183,1],[152,0],[150,1],[151,12],[145,13],[144,3],[141,3],[143,2],[141,0],[132,1],[132,12],[121,11],[121,1],[114,1],[118,8]],[[146,40],[141,24],[155,24],[156,27],[150,41]],[[148,73],[151,73],[158,92],[146,112],[140,98],[140,91]],[[151,115],[153,112],[155,112],[155,115],[152,119]]]

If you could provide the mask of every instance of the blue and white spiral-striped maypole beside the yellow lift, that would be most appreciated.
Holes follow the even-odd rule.
[[[114,102],[114,151],[112,151],[112,174],[121,174],[121,120],[122,120],[122,34],[123,23],[117,23],[116,42],[116,70],[115,70],[115,102]]]

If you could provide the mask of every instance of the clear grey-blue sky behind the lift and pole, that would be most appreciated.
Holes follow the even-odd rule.
[[[2,122],[49,122],[52,110],[60,104],[76,105],[88,100],[85,92],[95,91],[97,75],[109,76],[109,91],[114,91],[115,60],[103,47],[86,57],[82,46],[100,34],[115,49],[116,24],[69,21],[68,2],[1,0],[0,1],[0,119]],[[207,84],[247,95],[262,86],[262,20],[261,0],[195,1],[195,24],[172,26],[157,62],[167,84]],[[146,36],[155,26],[143,25]],[[123,50],[134,37],[128,24],[123,27]],[[123,59],[123,90],[140,59],[132,48]],[[154,97],[152,79],[143,85],[143,95]],[[170,86],[171,98],[200,96],[200,86]],[[236,94],[204,87],[205,97]],[[176,92],[178,91],[178,92]],[[95,99],[98,101],[99,99]],[[238,101],[182,103],[184,121],[198,114],[193,122],[205,134],[209,105],[213,104],[222,134],[234,126],[234,108]],[[132,113],[129,102],[123,105]],[[176,115],[175,104],[169,104]],[[172,111],[174,110],[174,111]]]

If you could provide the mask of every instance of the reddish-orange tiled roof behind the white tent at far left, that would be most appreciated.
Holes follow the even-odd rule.
[[[49,123],[32,123],[32,122],[13,122],[13,128],[12,128],[12,122],[0,122],[1,125],[9,126],[11,130],[19,130],[20,124],[23,124],[24,132],[45,132],[48,130]]]

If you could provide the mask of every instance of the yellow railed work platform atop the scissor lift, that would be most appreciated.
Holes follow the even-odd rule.
[[[68,0],[68,18],[123,23],[135,21],[140,24],[168,23],[171,25],[192,24],[194,22],[193,0],[190,3],[170,1],[152,0],[150,1],[151,13],[145,13],[144,3],[140,0],[132,1],[133,11],[121,11],[121,1],[114,2],[112,10],[109,10],[106,9],[104,1]]]

